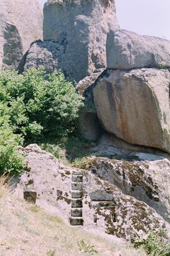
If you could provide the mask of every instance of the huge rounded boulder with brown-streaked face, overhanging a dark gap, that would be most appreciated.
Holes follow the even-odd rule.
[[[124,141],[170,152],[170,73],[107,70],[93,89],[103,128]]]

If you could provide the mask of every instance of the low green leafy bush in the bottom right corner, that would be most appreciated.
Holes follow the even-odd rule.
[[[136,236],[132,240],[135,248],[143,247],[150,256],[170,256],[170,240],[166,231],[161,233],[151,232],[146,239]]]

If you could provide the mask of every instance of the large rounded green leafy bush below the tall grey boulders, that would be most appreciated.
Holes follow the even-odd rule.
[[[73,131],[82,97],[60,71],[44,69],[0,73],[0,101],[9,107],[16,133],[33,141],[42,136],[63,137]]]

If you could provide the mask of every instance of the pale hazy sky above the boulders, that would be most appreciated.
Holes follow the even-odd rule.
[[[39,0],[43,5],[46,0]],[[170,40],[170,0],[115,0],[119,25]]]

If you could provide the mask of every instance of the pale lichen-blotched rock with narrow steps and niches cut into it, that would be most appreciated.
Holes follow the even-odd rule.
[[[154,209],[122,194],[115,185],[89,171],[66,167],[35,146],[26,149],[28,167],[15,194],[54,210],[71,225],[129,240],[133,233],[159,232],[169,225]],[[24,149],[22,149],[24,151]]]

